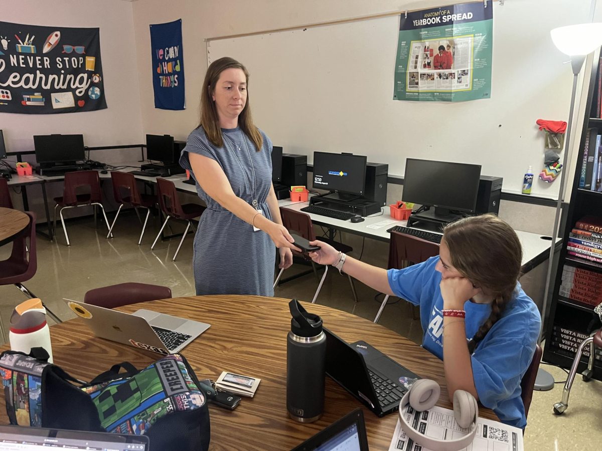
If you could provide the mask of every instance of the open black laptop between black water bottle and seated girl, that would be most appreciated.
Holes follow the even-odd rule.
[[[326,374],[379,417],[395,412],[408,388],[420,379],[366,342],[349,345],[326,327]]]

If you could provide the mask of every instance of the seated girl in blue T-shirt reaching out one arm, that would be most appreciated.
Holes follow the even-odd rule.
[[[493,215],[445,227],[439,256],[405,269],[368,265],[312,241],[314,262],[389,295],[420,305],[423,348],[443,360],[450,399],[473,394],[509,425],[527,425],[521,379],[539,337],[541,317],[518,283],[522,249],[512,227]]]

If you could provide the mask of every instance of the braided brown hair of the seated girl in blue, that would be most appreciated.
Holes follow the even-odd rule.
[[[489,318],[468,345],[473,352],[514,295],[521,275],[523,248],[514,229],[494,215],[452,222],[445,227],[443,238],[454,268],[493,297]]]

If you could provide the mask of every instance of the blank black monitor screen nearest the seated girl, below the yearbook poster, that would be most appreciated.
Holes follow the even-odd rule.
[[[480,175],[481,167],[477,164],[408,158],[402,200],[440,210],[473,213]]]

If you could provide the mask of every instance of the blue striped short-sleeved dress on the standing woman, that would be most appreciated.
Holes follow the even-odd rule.
[[[180,165],[191,170],[189,152],[214,159],[228,177],[234,194],[249,204],[255,198],[259,209],[272,219],[266,203],[272,186],[272,141],[261,130],[260,133],[263,144],[256,152],[253,141],[238,127],[222,129],[223,147],[214,146],[203,127],[199,127],[188,136]],[[196,181],[193,173],[192,176]],[[196,192],[207,205],[194,235],[196,294],[273,296],[276,247],[270,236],[262,230],[253,232],[252,225],[209,197],[198,182]]]

